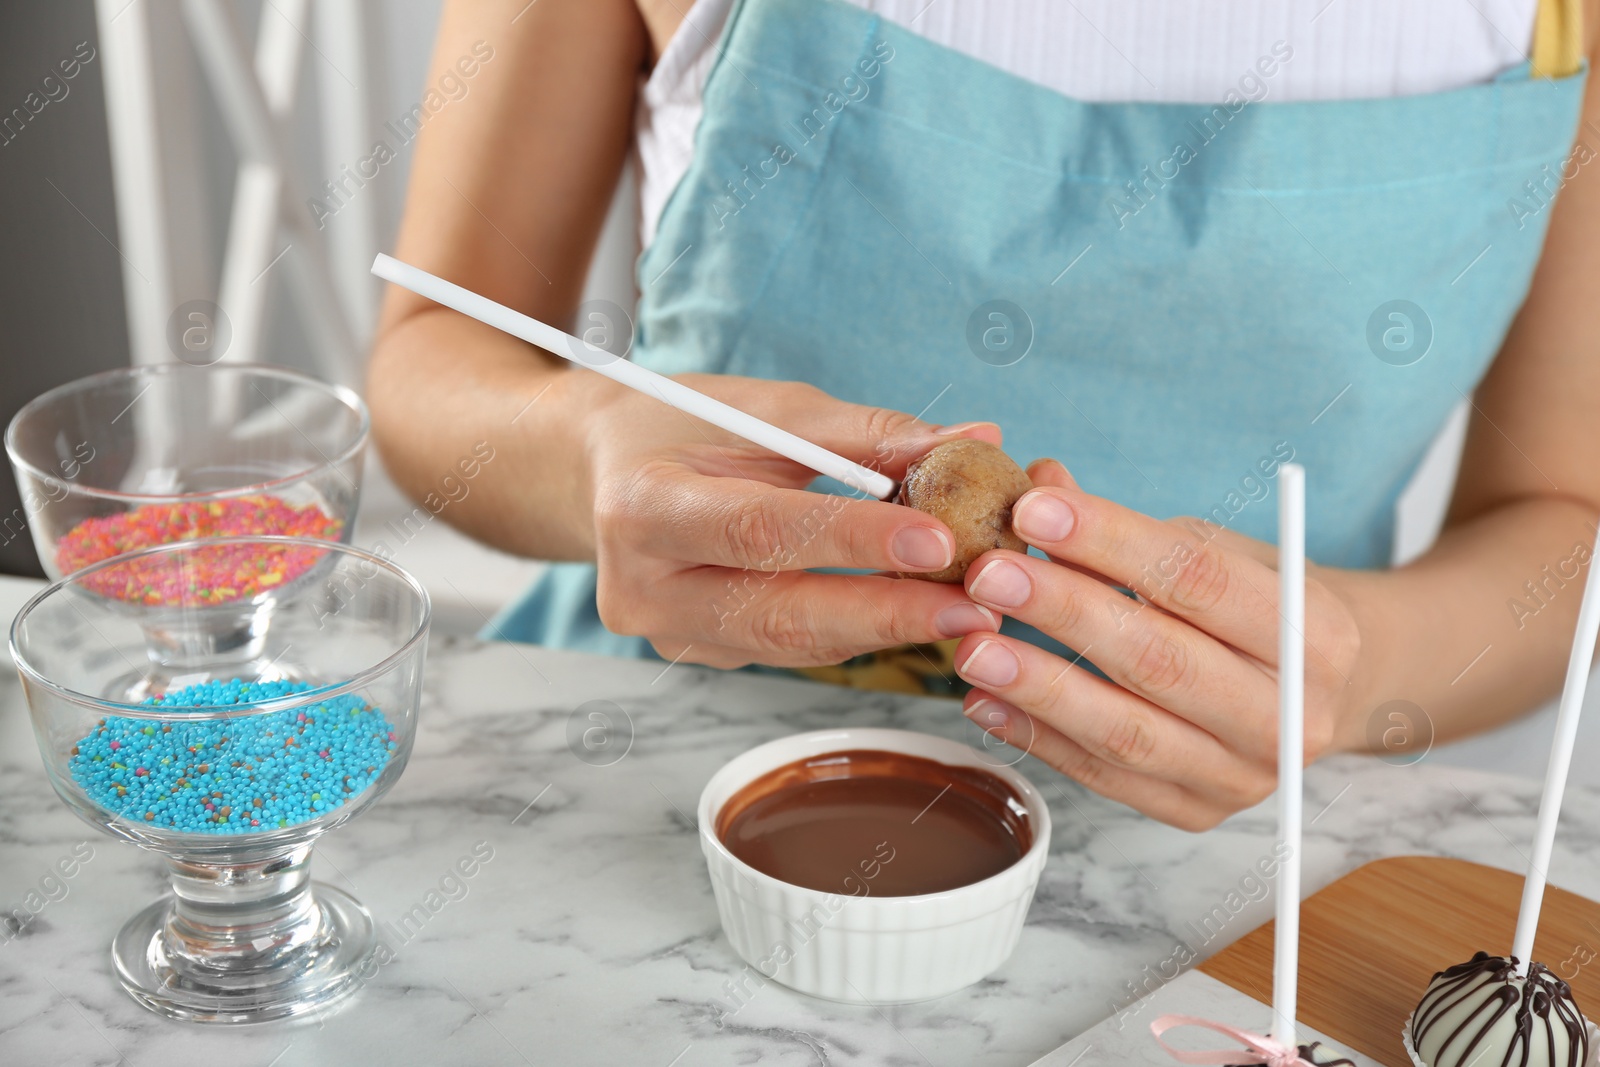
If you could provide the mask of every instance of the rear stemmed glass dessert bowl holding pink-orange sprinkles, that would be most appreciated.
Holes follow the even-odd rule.
[[[6,454],[34,547],[58,579],[115,555],[174,541],[288,536],[349,542],[360,504],[370,419],[349,389],[274,366],[173,363],[67,382],[27,403],[6,429]],[[322,558],[322,557],[317,557]],[[210,648],[248,659],[237,606],[290,585],[312,555],[210,557],[195,587],[158,558],[102,569],[94,592],[147,629],[152,649]],[[219,606],[221,605],[221,606]],[[218,608],[218,609],[210,609]],[[122,694],[171,688],[162,656]]]

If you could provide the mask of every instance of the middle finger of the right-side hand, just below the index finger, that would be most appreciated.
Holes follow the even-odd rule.
[[[1184,619],[1019,552],[978,557],[966,595],[1078,649],[1125,689],[1253,758],[1272,753],[1272,680]],[[1024,705],[1029,707],[1029,705]]]

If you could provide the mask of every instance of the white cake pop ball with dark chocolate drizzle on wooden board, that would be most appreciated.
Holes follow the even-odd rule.
[[[1520,979],[1515,958],[1480,952],[1429,982],[1411,1045],[1427,1067],[1582,1067],[1589,1024],[1542,963]]]

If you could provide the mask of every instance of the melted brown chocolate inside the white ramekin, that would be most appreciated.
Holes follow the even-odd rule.
[[[829,752],[728,798],[717,837],[790,885],[845,896],[942,893],[997,875],[1034,843],[1000,777],[915,755]]]

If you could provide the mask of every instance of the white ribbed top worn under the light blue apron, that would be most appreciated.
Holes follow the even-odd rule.
[[[850,0],[1083,101],[1221,102],[1285,42],[1264,99],[1438,93],[1523,62],[1538,0]],[[648,245],[694,155],[701,91],[733,0],[696,0],[635,117]]]

